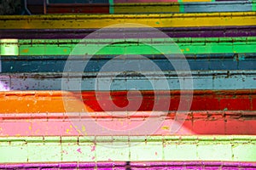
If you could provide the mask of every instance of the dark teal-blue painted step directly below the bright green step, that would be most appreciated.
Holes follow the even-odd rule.
[[[88,66],[84,68],[84,72],[101,71],[102,66],[118,57],[118,55],[95,55],[90,60],[90,56],[73,57],[73,61],[83,63],[88,61]],[[161,71],[175,71],[173,63],[181,61],[178,55],[172,55],[172,64],[166,59],[164,55],[144,55],[157,65]],[[185,54],[185,58],[189,64],[191,71],[242,71],[242,70],[256,70],[256,53],[255,54]],[[67,55],[46,55],[46,56],[2,56],[2,72],[4,73],[22,73],[22,72],[62,72],[64,71],[68,56]],[[144,59],[137,56],[125,56],[124,59],[116,58],[115,62],[120,65],[127,65],[130,62],[140,63]],[[154,71],[148,68],[143,71]],[[44,74],[42,74],[44,76]],[[0,78],[2,79],[2,78]]]

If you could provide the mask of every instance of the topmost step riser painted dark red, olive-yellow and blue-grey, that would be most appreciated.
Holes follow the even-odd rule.
[[[122,3],[104,4],[49,4],[48,14],[152,14],[152,13],[212,13],[249,12],[253,3]]]

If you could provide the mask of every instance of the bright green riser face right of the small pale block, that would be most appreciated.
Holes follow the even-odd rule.
[[[256,53],[256,44],[241,44],[232,45],[227,43],[219,44],[207,44],[207,45],[188,45],[178,44],[180,52],[183,54],[212,54],[212,53]],[[70,54],[75,45],[41,45],[41,46],[29,46],[21,45],[19,48],[20,55],[67,55]],[[91,54],[91,50],[96,46],[76,46],[74,54]],[[103,46],[102,46],[103,48]],[[139,45],[139,46],[107,46],[104,47],[97,54],[178,54],[175,50],[176,46],[158,46],[161,52],[152,50],[150,46]],[[174,49],[175,51],[170,51]]]

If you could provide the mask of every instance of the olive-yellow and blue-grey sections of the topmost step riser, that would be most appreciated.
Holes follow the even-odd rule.
[[[253,11],[253,2],[231,1],[212,3],[115,3],[114,14],[137,13],[211,13]],[[111,6],[110,6],[111,7]]]

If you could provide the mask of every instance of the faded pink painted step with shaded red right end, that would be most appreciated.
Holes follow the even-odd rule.
[[[44,106],[44,105],[42,105]],[[32,106],[33,107],[33,106]],[[38,110],[40,111],[40,110]],[[101,132],[87,130],[86,122],[101,122],[103,128],[118,129],[126,124],[135,126],[143,125],[148,119],[159,119],[159,112],[137,111],[136,114],[126,112],[122,118],[122,112],[113,112],[113,115],[104,112],[73,113],[72,121],[65,112],[45,113],[1,113],[0,136],[84,136],[99,135]],[[152,116],[152,114],[154,114]],[[115,116],[114,116],[115,115]],[[151,115],[150,117],[148,117]],[[162,117],[160,127],[154,129],[152,135],[255,135],[256,116],[254,111],[189,111],[185,122],[177,132],[170,132],[176,116],[175,111],[170,111],[168,116]],[[19,118],[17,118],[19,117]],[[128,119],[128,120],[127,120]],[[79,129],[73,122],[84,122]],[[117,125],[117,126],[116,126]],[[149,127],[148,127],[149,128]],[[137,133],[144,135],[144,133]]]

